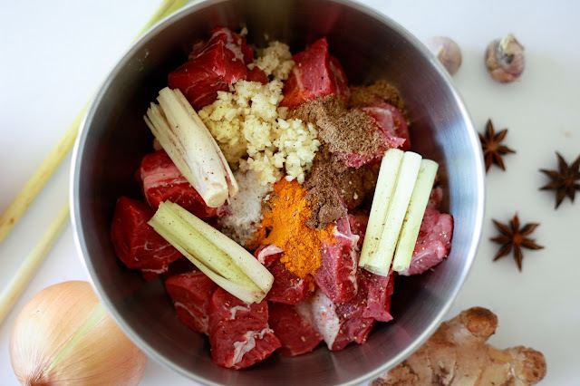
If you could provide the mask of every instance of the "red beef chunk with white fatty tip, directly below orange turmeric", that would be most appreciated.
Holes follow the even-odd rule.
[[[284,251],[278,246],[260,246],[254,256],[274,276],[272,288],[266,294],[270,302],[298,304],[314,291],[310,278],[301,279],[280,261]]]

